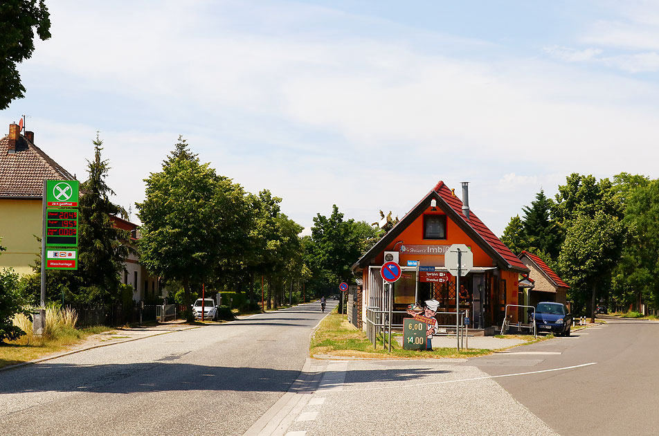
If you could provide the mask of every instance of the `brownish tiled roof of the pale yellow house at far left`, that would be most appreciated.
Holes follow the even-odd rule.
[[[42,198],[44,179],[74,180],[68,171],[39,147],[20,136],[9,154],[9,136],[0,139],[0,197]]]

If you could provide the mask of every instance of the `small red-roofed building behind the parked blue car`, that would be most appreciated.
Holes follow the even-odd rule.
[[[527,305],[536,306],[541,301],[561,302],[567,304],[567,292],[570,287],[563,282],[559,275],[554,272],[539,256],[522,251],[519,260],[530,269],[527,278],[533,285],[526,292]]]

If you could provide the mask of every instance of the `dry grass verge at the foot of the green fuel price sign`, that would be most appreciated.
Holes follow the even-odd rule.
[[[24,335],[17,340],[1,342],[0,368],[33,361],[48,354],[65,351],[71,345],[80,343],[88,336],[110,330],[112,329],[104,326],[89,327],[81,330],[66,328],[60,329],[52,337],[44,336],[37,338],[35,336]]]

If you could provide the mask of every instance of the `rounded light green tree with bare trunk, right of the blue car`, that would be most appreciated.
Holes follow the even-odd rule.
[[[602,210],[591,217],[585,212],[572,219],[559,255],[563,278],[572,287],[577,307],[585,307],[590,291],[590,314],[595,322],[595,296],[598,287],[611,281],[611,270],[620,257],[624,226],[620,219]]]

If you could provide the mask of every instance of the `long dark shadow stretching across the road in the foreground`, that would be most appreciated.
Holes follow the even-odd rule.
[[[156,363],[125,365],[72,365],[39,363],[0,374],[0,394],[25,392],[173,392],[183,390],[287,392],[298,379],[314,374],[258,367],[206,366],[175,363],[185,354],[167,356]],[[413,381],[446,373],[433,368],[350,372],[350,383]],[[329,379],[338,375],[326,371]]]

